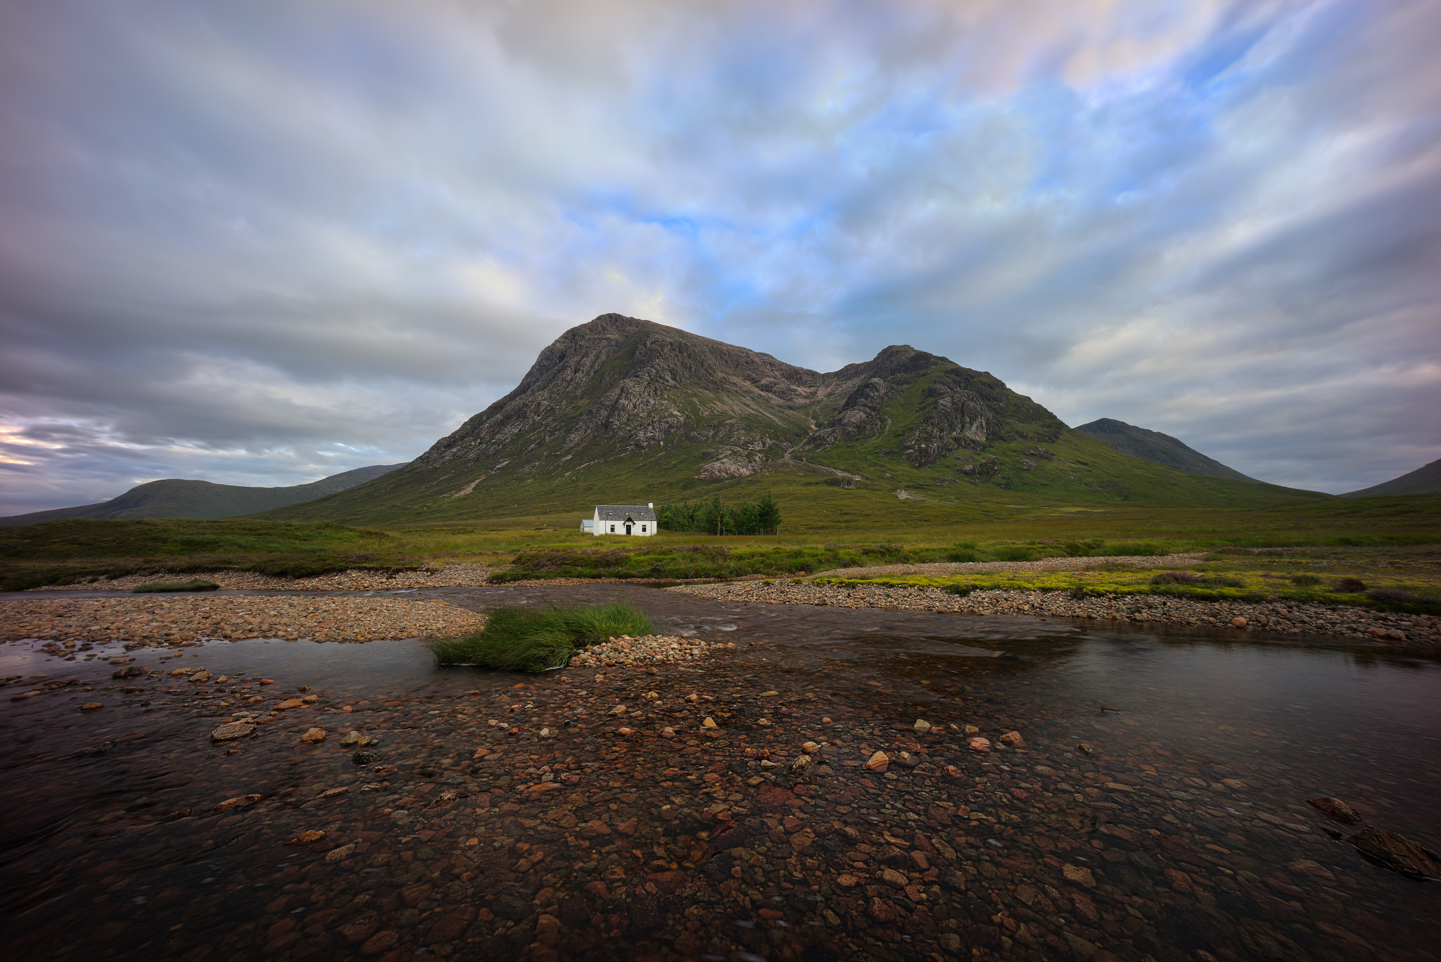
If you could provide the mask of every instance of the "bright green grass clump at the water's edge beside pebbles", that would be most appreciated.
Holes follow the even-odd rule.
[[[499,607],[470,637],[428,643],[437,665],[477,665],[543,672],[565,668],[576,649],[620,635],[654,635],[650,619],[628,604],[537,610]]]

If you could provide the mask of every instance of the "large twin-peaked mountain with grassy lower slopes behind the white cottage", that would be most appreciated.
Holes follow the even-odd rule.
[[[1131,457],[1068,428],[990,374],[905,345],[820,374],[602,314],[561,335],[514,391],[406,467],[264,516],[579,516],[595,503],[735,500],[764,490],[790,505],[790,531],[798,516],[831,528],[1007,516],[1007,502],[1251,506],[1329,498]]]

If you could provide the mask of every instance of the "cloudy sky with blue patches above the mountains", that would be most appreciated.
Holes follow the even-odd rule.
[[[0,3],[0,513],[408,460],[605,312],[1441,456],[1434,0]]]

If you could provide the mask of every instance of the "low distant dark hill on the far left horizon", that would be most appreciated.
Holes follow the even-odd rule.
[[[33,525],[59,518],[98,521],[117,518],[235,518],[334,495],[388,475],[398,467],[405,467],[405,464],[370,464],[290,487],[242,487],[239,485],[212,485],[210,482],[167,477],[138,485],[120,498],[98,505],[10,515],[0,518],[0,525]]]

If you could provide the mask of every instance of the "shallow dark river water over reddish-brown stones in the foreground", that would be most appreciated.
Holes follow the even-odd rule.
[[[408,596],[624,600],[735,650],[539,678],[438,669],[414,639],[137,652],[228,676],[197,689],[12,643],[0,674],[82,682],[0,702],[12,958],[1438,958],[1434,883],[1306,805],[1441,848],[1435,661],[640,586]],[[301,687],[320,698],[210,743]],[[823,763],[791,773],[807,740]],[[876,749],[919,764],[867,772]]]

